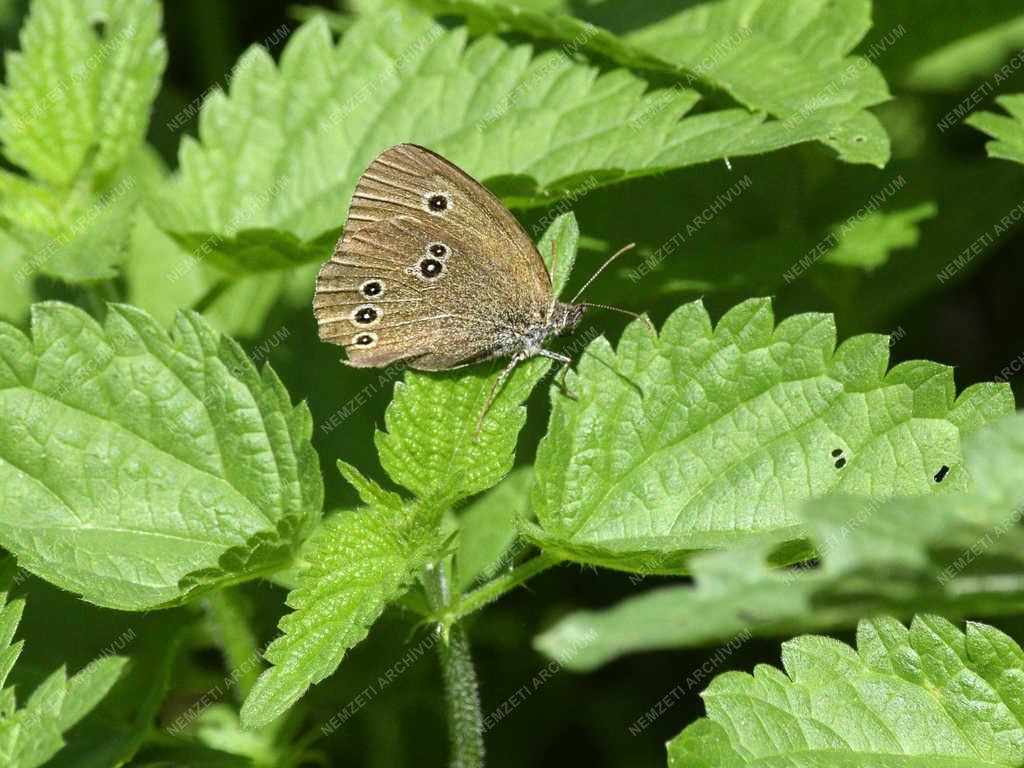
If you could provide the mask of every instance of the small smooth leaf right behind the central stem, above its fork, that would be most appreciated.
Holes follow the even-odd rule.
[[[483,577],[493,579],[510,566],[504,555],[516,538],[516,519],[526,516],[531,468],[515,469],[496,487],[473,501],[459,517],[459,589]]]

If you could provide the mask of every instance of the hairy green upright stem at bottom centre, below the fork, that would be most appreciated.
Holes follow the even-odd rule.
[[[452,768],[481,768],[483,716],[476,670],[473,669],[469,640],[462,625],[452,627],[447,643],[439,647],[452,740],[450,765]]]

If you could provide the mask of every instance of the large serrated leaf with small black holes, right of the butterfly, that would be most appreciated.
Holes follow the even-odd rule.
[[[688,551],[799,538],[805,499],[929,494],[963,464],[962,434],[1013,396],[978,384],[956,398],[950,369],[888,361],[887,337],[837,348],[830,315],[776,327],[767,299],[714,329],[694,302],[657,336],[633,324],[617,350],[598,339],[569,377],[579,400],[554,394],[530,535],[584,562],[678,572]]]

